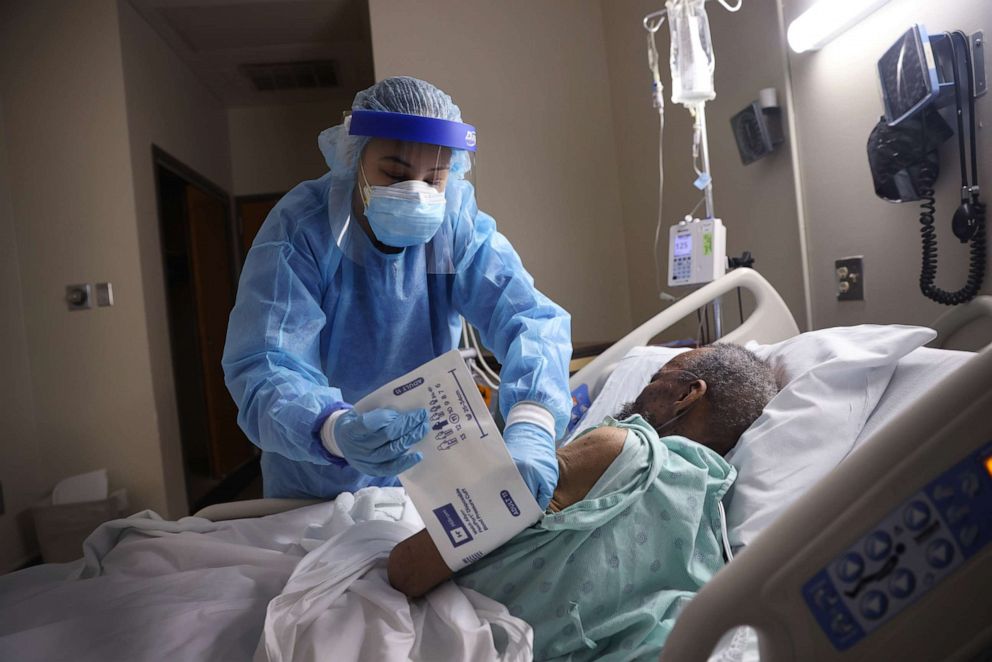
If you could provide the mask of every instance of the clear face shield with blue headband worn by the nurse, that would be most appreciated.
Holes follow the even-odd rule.
[[[347,130],[366,140],[355,169],[350,222],[336,235],[339,247],[364,263],[371,240],[379,253],[423,253],[429,273],[452,273],[460,244],[472,236],[472,219],[459,218],[459,212],[474,191],[475,128],[356,110]]]

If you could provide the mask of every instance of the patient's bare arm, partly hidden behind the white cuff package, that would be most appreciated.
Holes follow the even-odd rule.
[[[626,430],[595,428],[558,449],[558,486],[549,509],[558,512],[585,498],[603,472],[620,455]],[[411,598],[427,593],[454,574],[423,529],[396,545],[389,554],[389,583]]]

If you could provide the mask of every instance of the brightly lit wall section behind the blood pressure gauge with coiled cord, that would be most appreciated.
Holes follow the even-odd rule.
[[[786,24],[810,4],[810,0],[784,0]],[[898,35],[917,22],[931,33],[984,30],[988,37],[992,34],[992,2],[893,0],[820,51],[789,52],[817,327],[862,322],[926,324],[947,310],[919,291],[919,206],[888,204],[875,197],[865,152],[868,134],[882,113],[875,63]],[[987,54],[985,60],[987,67],[992,66]],[[992,97],[980,98],[976,111],[985,125],[979,129],[979,176],[983,197],[988,199],[987,192],[992,191]],[[948,290],[961,287],[967,272],[966,248],[950,231],[960,199],[957,153],[955,139],[942,146],[937,187],[937,284]],[[864,256],[865,300],[837,301],[834,260],[852,255]],[[992,292],[990,285],[987,275],[985,293]]]

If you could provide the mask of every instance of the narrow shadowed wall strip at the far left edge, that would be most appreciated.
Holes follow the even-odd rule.
[[[48,487],[41,479],[3,119],[0,99],[0,365],[4,366],[4,378],[0,380],[0,483],[4,497],[0,574],[37,553],[28,508],[44,496]]]

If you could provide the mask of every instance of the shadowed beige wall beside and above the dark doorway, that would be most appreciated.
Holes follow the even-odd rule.
[[[137,252],[128,256],[141,283],[144,320],[135,336],[146,347],[154,387],[152,441],[160,446],[156,489],[164,488],[167,512],[187,514],[175,382],[169,345],[152,145],[230,193],[231,150],[227,111],[125,0],[118,2],[124,65],[131,182],[134,186]],[[134,220],[132,220],[132,224]],[[133,230],[132,230],[133,232]],[[136,259],[138,264],[131,265]],[[137,339],[137,338],[136,338]],[[147,380],[148,377],[146,376]],[[161,507],[161,506],[159,506]]]

